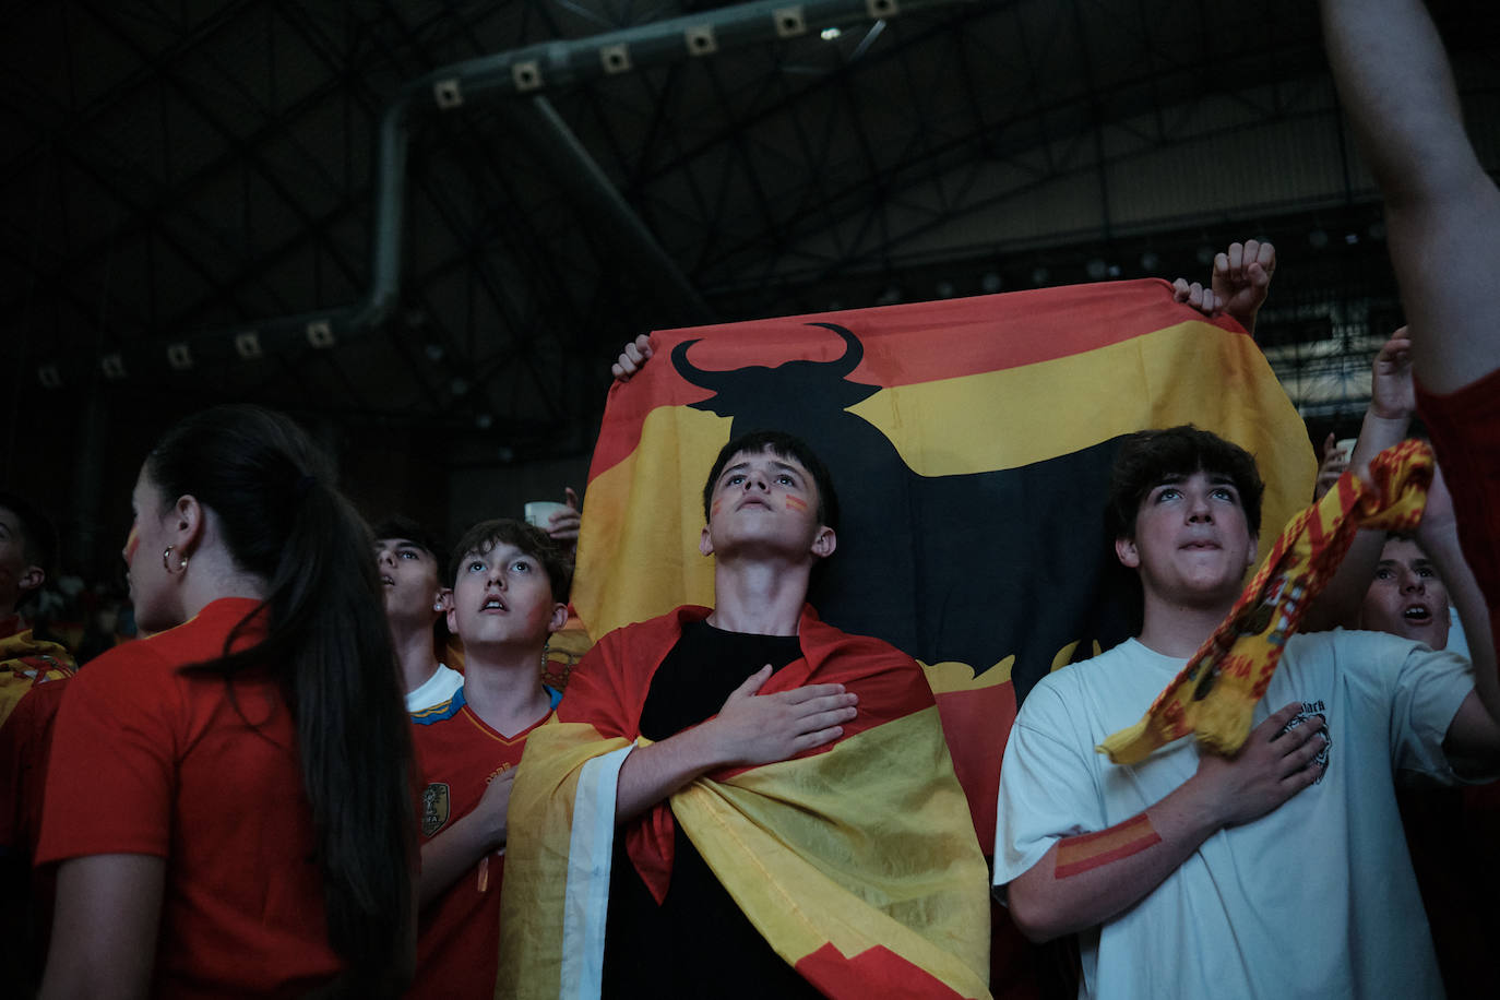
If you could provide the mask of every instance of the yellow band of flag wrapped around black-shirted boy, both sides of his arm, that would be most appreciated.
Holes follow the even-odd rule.
[[[579,774],[627,742],[579,723],[528,741],[510,801],[496,997],[558,996],[567,882],[584,877],[568,858]],[[669,802],[788,963],[830,943],[848,958],[884,948],[962,997],[988,997],[988,876],[946,757],[928,708],[822,754],[699,778]]]

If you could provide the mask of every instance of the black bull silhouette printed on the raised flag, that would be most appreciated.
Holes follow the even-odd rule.
[[[1056,663],[1132,634],[1137,592],[1104,525],[1118,439],[1016,469],[918,475],[848,412],[880,390],[848,378],[864,357],[860,339],[810,325],[836,333],[843,357],[711,372],[688,358],[698,340],[684,340],[672,364],[714,393],[690,405],[732,418],[730,438],[784,430],[826,463],[842,510],[838,549],[808,595],[824,621],[975,675],[1014,655],[1017,703]]]

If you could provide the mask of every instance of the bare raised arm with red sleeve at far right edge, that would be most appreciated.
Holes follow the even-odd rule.
[[[1466,627],[1488,619],[1492,636],[1500,631],[1500,535],[1490,499],[1500,490],[1500,297],[1486,289],[1500,267],[1500,190],[1464,133],[1443,45],[1419,0],[1322,0],[1322,9],[1334,79],[1386,201],[1390,261],[1414,334],[1413,370],[1434,394],[1424,417],[1456,490],[1467,565],[1446,559],[1438,570],[1449,586],[1450,573],[1476,573],[1488,607],[1470,615],[1460,606],[1460,613]],[[1428,556],[1440,559],[1432,550]],[[1485,636],[1476,645],[1479,693],[1460,715],[1484,738],[1500,718],[1500,699],[1492,691],[1494,643]],[[1485,718],[1474,715],[1476,702]]]

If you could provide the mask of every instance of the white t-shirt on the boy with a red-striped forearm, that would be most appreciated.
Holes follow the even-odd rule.
[[[1185,663],[1131,639],[1032,690],[1000,769],[996,886],[1056,840],[1120,823],[1192,777],[1192,739],[1134,766],[1095,751]],[[1464,660],[1395,636],[1293,636],[1254,721],[1288,702],[1324,717],[1323,777],[1218,831],[1146,898],[1084,931],[1080,996],[1442,996],[1394,778],[1454,780],[1442,744],[1472,690]]]

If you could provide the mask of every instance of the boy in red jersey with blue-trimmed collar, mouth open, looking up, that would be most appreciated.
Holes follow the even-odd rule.
[[[542,684],[548,636],[567,621],[568,564],[544,532],[484,520],[453,550],[448,628],[464,640],[453,697],[414,712],[422,883],[411,997],[495,993],[506,811],[526,738],[561,694]]]

